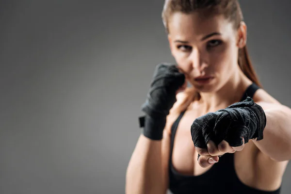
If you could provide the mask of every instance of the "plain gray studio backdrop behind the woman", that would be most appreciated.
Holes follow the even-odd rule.
[[[174,62],[162,4],[0,2],[0,194],[124,193],[154,67]],[[291,107],[291,1],[241,5],[255,69]]]

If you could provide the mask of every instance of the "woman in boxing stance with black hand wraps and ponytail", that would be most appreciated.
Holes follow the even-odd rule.
[[[162,18],[178,65],[157,66],[126,193],[279,194],[291,109],[258,81],[238,1],[166,0]]]

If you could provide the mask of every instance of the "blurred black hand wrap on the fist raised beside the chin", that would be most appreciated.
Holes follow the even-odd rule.
[[[146,113],[143,133],[153,140],[162,139],[166,116],[177,101],[176,92],[185,82],[185,75],[176,65],[159,64],[156,66],[146,102],[142,111]]]

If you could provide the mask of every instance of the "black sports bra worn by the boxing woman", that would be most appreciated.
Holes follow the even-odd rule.
[[[255,83],[251,84],[241,99],[253,97],[259,89]],[[185,176],[179,174],[172,165],[172,152],[175,134],[182,112],[174,122],[171,129],[171,150],[169,161],[169,190],[173,194],[280,194],[280,189],[275,191],[261,191],[251,188],[241,182],[234,168],[234,154],[226,153],[218,163],[215,163],[206,173],[199,176]]]

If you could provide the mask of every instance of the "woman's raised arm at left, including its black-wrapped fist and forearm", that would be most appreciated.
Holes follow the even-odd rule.
[[[126,194],[165,194],[168,182],[170,130],[168,118],[179,89],[187,86],[177,65],[159,64],[142,106],[145,115],[126,173]],[[172,119],[170,119],[172,120]]]

